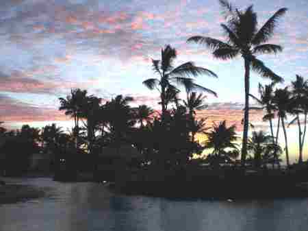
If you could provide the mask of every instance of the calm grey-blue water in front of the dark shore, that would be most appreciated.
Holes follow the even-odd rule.
[[[11,181],[49,186],[53,196],[0,205],[1,231],[308,230],[308,199],[180,201],[115,195],[94,183]]]

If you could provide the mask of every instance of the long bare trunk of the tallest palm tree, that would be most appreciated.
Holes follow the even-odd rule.
[[[244,131],[243,131],[243,143],[242,143],[242,167],[245,166],[247,156],[247,141],[248,141],[248,128],[249,128],[249,75],[250,75],[250,60],[245,60],[245,110],[244,110]]]

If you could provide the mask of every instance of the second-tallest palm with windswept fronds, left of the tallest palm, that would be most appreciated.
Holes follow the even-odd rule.
[[[166,45],[162,49],[161,60],[152,60],[153,70],[158,73],[159,78],[151,78],[145,80],[143,84],[150,90],[157,89],[160,94],[162,104],[162,121],[166,116],[168,101],[166,101],[166,93],[168,89],[175,89],[179,86],[185,86],[186,89],[208,90],[203,86],[194,83],[192,77],[200,74],[206,74],[217,77],[217,75],[199,66],[195,66],[193,62],[185,62],[177,67],[173,67],[173,63],[177,58],[177,51],[170,45]]]

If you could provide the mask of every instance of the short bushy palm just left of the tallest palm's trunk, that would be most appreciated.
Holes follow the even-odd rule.
[[[207,141],[205,141],[205,147],[213,149],[210,159],[214,160],[214,165],[219,165],[219,161],[222,159],[229,159],[229,154],[233,151],[226,149],[237,150],[237,144],[234,141],[237,140],[235,125],[227,127],[226,121],[220,122],[218,125],[214,123],[213,130],[207,133]]]

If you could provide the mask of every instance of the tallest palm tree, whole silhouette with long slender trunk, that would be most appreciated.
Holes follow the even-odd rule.
[[[222,29],[228,36],[227,42],[204,36],[193,36],[188,42],[196,42],[207,45],[213,51],[213,56],[222,60],[229,60],[241,55],[244,59],[245,75],[245,108],[244,108],[244,132],[242,143],[242,165],[247,154],[247,138],[249,125],[249,88],[250,71],[253,70],[261,77],[270,78],[274,82],[282,82],[282,78],[271,71],[256,55],[260,53],[277,53],[282,51],[279,45],[268,44],[274,34],[277,21],[287,8],[281,8],[268,21],[257,30],[257,14],[253,11],[253,5],[246,10],[234,9],[227,0],[220,0],[224,8],[227,24],[221,24]]]

